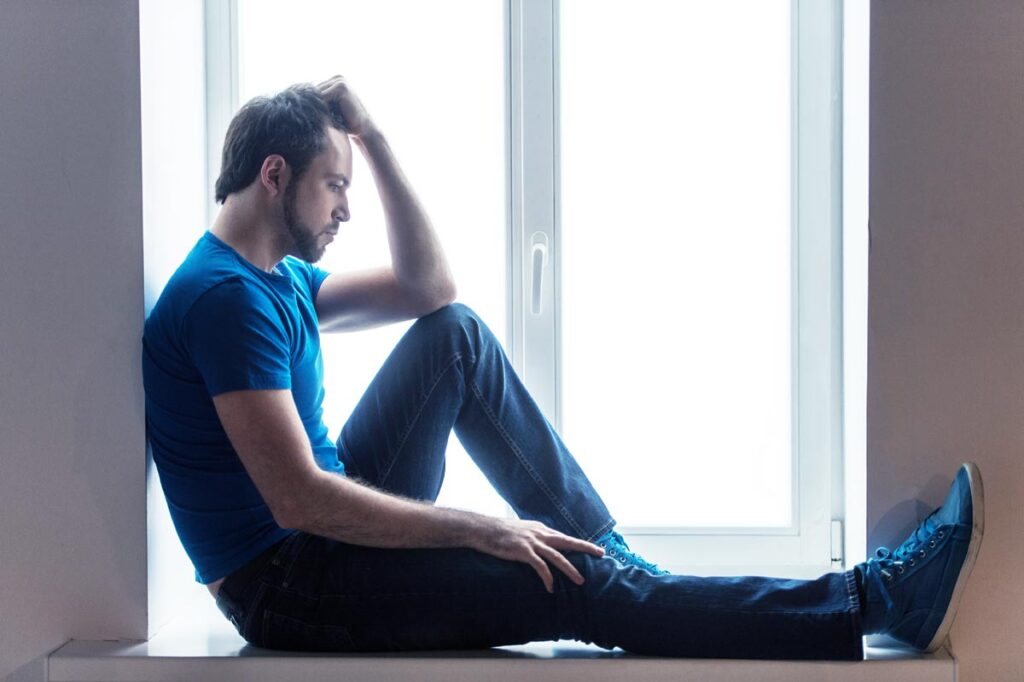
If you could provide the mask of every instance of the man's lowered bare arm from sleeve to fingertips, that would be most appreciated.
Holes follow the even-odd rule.
[[[370,547],[469,547],[531,565],[549,592],[554,585],[549,563],[578,585],[583,583],[562,551],[603,554],[596,545],[537,521],[435,507],[321,470],[291,391],[231,391],[214,396],[213,403],[282,527]]]

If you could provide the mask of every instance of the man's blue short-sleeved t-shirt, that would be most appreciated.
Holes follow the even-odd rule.
[[[344,474],[323,420],[313,301],[327,274],[290,256],[264,272],[208,231],[145,321],[146,433],[200,583],[229,574],[290,534],[231,447],[214,395],[291,389],[316,464]]]

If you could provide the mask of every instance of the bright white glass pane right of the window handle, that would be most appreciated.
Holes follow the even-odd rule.
[[[626,526],[791,522],[791,6],[561,0],[562,432]]]

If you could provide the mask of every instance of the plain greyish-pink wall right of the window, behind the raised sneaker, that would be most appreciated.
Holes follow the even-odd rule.
[[[1024,679],[1024,3],[871,4],[867,529],[903,536],[956,466],[987,530],[957,679]]]

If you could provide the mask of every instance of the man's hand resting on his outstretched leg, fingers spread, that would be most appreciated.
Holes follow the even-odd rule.
[[[474,534],[476,537],[470,540],[469,546],[499,559],[528,563],[541,577],[548,592],[554,592],[555,587],[555,579],[548,563],[568,576],[577,585],[583,585],[583,576],[562,555],[562,551],[604,555],[604,550],[597,545],[566,536],[538,521],[487,518],[490,521],[487,527]]]

